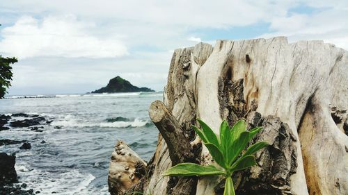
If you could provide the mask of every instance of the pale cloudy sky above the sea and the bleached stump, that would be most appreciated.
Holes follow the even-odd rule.
[[[348,49],[348,1],[0,0],[9,94],[84,93],[114,76],[163,90],[174,49],[287,36]]]

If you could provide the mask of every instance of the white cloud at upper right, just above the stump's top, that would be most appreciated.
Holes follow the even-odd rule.
[[[292,14],[271,20],[271,30],[259,37],[287,36],[290,42],[324,40],[348,50],[348,12],[346,6],[326,8],[313,14]],[[334,4],[333,4],[334,5]]]

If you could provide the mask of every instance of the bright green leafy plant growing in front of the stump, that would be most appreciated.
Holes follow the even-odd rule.
[[[239,120],[230,128],[226,120],[221,123],[220,135],[216,136],[214,131],[203,121],[197,119],[202,130],[192,126],[197,135],[203,140],[210,155],[222,168],[214,165],[202,166],[195,163],[180,163],[164,172],[164,176],[211,176],[222,175],[226,178],[224,195],[235,194],[232,182],[232,174],[235,171],[252,167],[256,164],[253,153],[267,146],[267,142],[258,142],[249,146],[244,153],[248,142],[261,130],[256,127],[246,131],[246,122]]]

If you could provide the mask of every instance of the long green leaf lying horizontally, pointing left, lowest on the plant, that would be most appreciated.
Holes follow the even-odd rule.
[[[223,171],[217,169],[213,165],[202,166],[200,164],[187,162],[169,168],[164,172],[163,176],[209,176],[223,174]]]

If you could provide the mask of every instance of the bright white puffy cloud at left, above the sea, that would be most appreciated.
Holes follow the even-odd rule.
[[[31,58],[113,58],[127,55],[127,48],[113,36],[102,39],[88,34],[93,24],[80,22],[72,15],[44,17],[41,21],[24,16],[13,26],[3,28],[0,52],[4,56]]]

